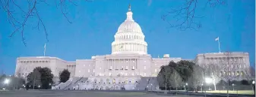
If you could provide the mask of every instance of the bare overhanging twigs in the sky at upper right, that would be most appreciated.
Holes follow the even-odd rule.
[[[186,29],[200,29],[201,23],[199,18],[202,18],[202,14],[196,14],[198,11],[198,2],[205,2],[205,7],[210,6],[214,8],[218,5],[226,5],[226,0],[185,0],[182,5],[177,8],[171,7],[169,11],[166,11],[166,14],[162,16],[162,19],[169,23],[169,28],[177,28],[180,30]],[[168,20],[168,18],[172,20]]]

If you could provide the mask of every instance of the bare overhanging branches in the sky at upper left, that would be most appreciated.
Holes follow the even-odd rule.
[[[84,0],[84,1],[93,2],[93,0]],[[40,16],[40,11],[38,11],[37,6],[43,3],[46,5],[46,7],[49,7],[50,4],[47,3],[46,0],[27,0],[28,8],[22,8],[18,2],[24,2],[24,1],[19,1],[19,0],[1,0],[0,1],[2,11],[5,11],[5,13],[8,16],[8,22],[11,24],[12,27],[14,27],[14,31],[11,32],[9,37],[13,37],[17,32],[21,32],[22,41],[26,46],[26,41],[24,38],[24,28],[26,27],[28,20],[30,20],[31,18],[36,18],[37,22],[34,28],[40,30],[40,28],[43,27],[43,31],[46,35],[46,41],[49,41],[46,26],[43,23],[42,17]],[[69,20],[67,17],[68,4],[77,6],[73,2],[73,0],[55,0],[55,4],[53,5],[55,5],[56,8],[60,8],[61,13],[68,20],[68,23],[72,23],[71,20]],[[21,14],[19,15],[21,17],[14,17],[15,16],[14,14]],[[17,18],[22,18],[22,20],[21,21],[17,20]]]

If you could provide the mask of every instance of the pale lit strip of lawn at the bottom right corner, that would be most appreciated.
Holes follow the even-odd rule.
[[[199,92],[199,91],[198,91]],[[207,93],[227,93],[227,90],[213,90],[213,91],[206,91]],[[254,95],[254,90],[229,90],[230,94],[248,94]]]

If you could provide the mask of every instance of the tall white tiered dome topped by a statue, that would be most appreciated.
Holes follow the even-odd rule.
[[[141,26],[132,18],[131,5],[126,20],[119,26],[112,42],[112,54],[147,54],[147,42]]]

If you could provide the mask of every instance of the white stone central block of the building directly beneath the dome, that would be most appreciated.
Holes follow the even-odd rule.
[[[156,77],[160,66],[170,61],[179,62],[181,58],[152,58],[140,54],[111,54],[93,56],[93,59],[77,59],[76,77],[93,76],[137,76]]]

